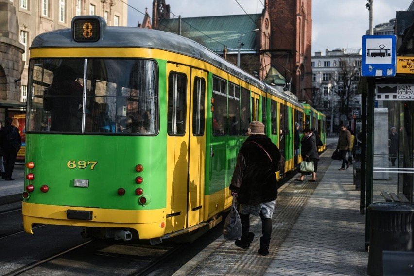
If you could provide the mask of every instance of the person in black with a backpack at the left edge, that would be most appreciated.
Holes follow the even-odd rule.
[[[19,129],[12,123],[13,119],[7,117],[5,120],[5,126],[0,130],[0,146],[4,151],[4,169],[6,181],[15,180],[12,179],[12,173],[17,158],[17,152],[20,150],[21,146]]]

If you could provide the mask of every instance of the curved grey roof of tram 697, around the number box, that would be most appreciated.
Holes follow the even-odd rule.
[[[265,90],[264,83],[201,44],[171,33],[137,27],[105,27],[100,40],[94,43],[76,42],[71,29],[39,34],[29,49],[44,47],[136,47],[161,49],[183,54],[215,65],[228,73]]]

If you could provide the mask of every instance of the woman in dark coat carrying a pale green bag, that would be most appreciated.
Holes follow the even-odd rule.
[[[309,127],[303,129],[303,138],[302,138],[302,159],[307,162],[313,162],[313,172],[312,172],[312,179],[309,180],[310,182],[316,182],[316,171],[318,169],[318,161],[319,161],[319,154],[318,154],[318,147],[316,146],[316,135],[314,132],[311,131]],[[296,178],[296,181],[302,182],[303,178],[305,177],[306,173],[301,173],[299,178]]]

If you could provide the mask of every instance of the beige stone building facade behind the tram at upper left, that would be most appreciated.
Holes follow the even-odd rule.
[[[1,103],[25,102],[29,47],[36,35],[70,28],[78,15],[98,15],[108,26],[127,26],[127,0],[0,0]]]

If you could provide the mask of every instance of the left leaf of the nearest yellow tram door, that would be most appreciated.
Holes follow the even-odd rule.
[[[190,83],[190,67],[167,64],[166,231],[173,232],[187,227]]]

